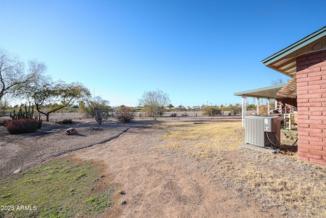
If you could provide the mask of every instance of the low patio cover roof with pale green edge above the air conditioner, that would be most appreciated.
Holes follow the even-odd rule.
[[[263,88],[257,88],[247,91],[235,92],[236,96],[247,96],[253,98],[262,98],[262,99],[287,99],[288,97],[277,95],[278,91],[280,91],[286,83],[278,84],[274,86],[267,86]]]

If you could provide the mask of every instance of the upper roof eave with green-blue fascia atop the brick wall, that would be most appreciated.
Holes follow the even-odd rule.
[[[296,75],[296,57],[325,49],[326,27],[323,27],[261,62],[265,66],[293,78]]]

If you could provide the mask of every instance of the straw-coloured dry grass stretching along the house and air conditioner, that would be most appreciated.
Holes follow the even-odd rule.
[[[253,198],[261,211],[278,215],[326,217],[326,167],[297,161],[296,154],[267,154],[237,145],[244,141],[241,122],[164,124],[170,150],[209,166],[205,174],[216,184]],[[285,136],[281,134],[281,141]]]

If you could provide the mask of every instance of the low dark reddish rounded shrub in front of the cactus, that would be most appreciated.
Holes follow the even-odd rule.
[[[36,119],[13,119],[5,124],[10,134],[36,132],[39,122]]]

